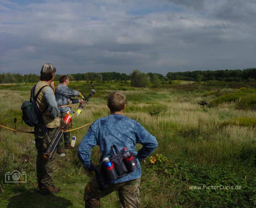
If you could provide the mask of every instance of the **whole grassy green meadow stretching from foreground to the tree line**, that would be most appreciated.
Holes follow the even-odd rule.
[[[127,96],[124,115],[140,122],[159,143],[141,161],[142,208],[255,207],[256,82],[173,81],[161,88],[135,88],[129,82],[95,82],[89,108],[74,115],[74,127],[109,114],[106,99],[113,90]],[[90,83],[70,82],[87,95]],[[21,122],[20,106],[29,100],[32,84],[0,85],[0,124],[33,130]],[[239,95],[238,95],[239,94]],[[230,98],[231,97],[231,98]],[[235,98],[234,98],[235,97]],[[197,102],[209,105],[199,107]],[[73,105],[76,111],[77,104]],[[17,124],[14,123],[17,118]],[[36,193],[36,148],[33,134],[0,128],[0,207],[84,207],[83,192],[91,173],[76,156],[88,126],[71,132],[75,150],[56,154],[53,173],[59,194]],[[141,145],[138,145],[138,149]],[[92,149],[97,164],[99,149]],[[8,171],[26,172],[26,183],[5,183]],[[200,188],[201,187],[201,188]],[[101,199],[102,207],[119,207],[116,193]]]

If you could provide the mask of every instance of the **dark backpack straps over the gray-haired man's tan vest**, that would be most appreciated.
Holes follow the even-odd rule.
[[[36,111],[37,119],[38,119],[38,122],[42,125],[42,130],[43,130],[44,133],[48,133],[48,130],[47,130],[45,124],[44,124],[42,115],[43,115],[44,112],[46,112],[47,107],[46,107],[46,109],[44,110],[44,112],[41,113],[41,111],[39,110],[39,108],[38,108],[38,106],[37,106],[36,100],[37,100],[37,97],[38,97],[39,93],[42,91],[42,89],[43,89],[44,87],[47,87],[47,86],[49,86],[49,85],[44,85],[44,86],[42,86],[42,87],[38,90],[36,96],[34,96],[34,92],[35,92],[35,89],[36,89],[36,85],[34,85],[33,88],[32,88],[32,90],[31,90],[31,97],[30,97],[30,101],[32,100],[31,98],[33,98],[33,102],[32,102],[32,103],[33,103],[34,109],[35,109],[35,111]]]

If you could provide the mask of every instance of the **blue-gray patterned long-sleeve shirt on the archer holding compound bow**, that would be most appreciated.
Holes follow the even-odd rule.
[[[78,103],[78,99],[73,99],[71,97],[78,96],[79,92],[76,90],[71,90],[68,86],[59,84],[55,90],[55,98],[58,106],[69,105],[69,103]],[[58,107],[61,113],[66,113],[71,111],[71,107]],[[72,113],[72,112],[71,112]]]

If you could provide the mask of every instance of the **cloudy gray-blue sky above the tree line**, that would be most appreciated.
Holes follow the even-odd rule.
[[[255,0],[0,0],[0,73],[256,67]]]

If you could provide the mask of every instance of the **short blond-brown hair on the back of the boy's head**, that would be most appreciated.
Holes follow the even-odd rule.
[[[124,108],[126,103],[126,95],[120,91],[110,92],[108,95],[108,108],[110,111],[117,112]]]

